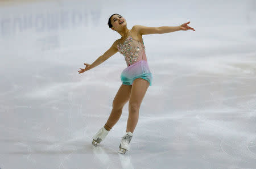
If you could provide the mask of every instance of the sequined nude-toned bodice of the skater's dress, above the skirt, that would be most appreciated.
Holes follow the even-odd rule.
[[[117,45],[118,52],[125,57],[127,66],[135,64],[138,61],[146,60],[144,43],[134,40],[133,37],[128,36],[123,43]]]

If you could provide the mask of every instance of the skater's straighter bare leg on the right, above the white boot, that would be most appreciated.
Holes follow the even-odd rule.
[[[134,132],[139,119],[139,108],[150,85],[148,81],[142,78],[135,79],[131,87],[131,96],[129,100],[129,117],[127,120],[126,132]]]

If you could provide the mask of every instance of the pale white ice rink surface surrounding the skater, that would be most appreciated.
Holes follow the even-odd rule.
[[[104,141],[120,53],[85,73],[121,35],[147,27],[152,86],[128,154],[128,104]],[[0,168],[256,168],[256,1],[0,2]]]

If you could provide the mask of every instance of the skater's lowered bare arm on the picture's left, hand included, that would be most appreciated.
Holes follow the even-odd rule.
[[[118,52],[118,49],[117,49],[117,40],[116,40],[116,41],[114,41],[113,45],[104,54],[102,54],[100,57],[98,57],[97,60],[94,61],[91,65],[84,64],[85,69],[80,68],[81,70],[79,70],[79,73],[83,73],[87,70],[92,69],[93,67],[100,65],[102,62],[104,62],[105,60],[107,60],[108,58],[110,58],[117,52]]]

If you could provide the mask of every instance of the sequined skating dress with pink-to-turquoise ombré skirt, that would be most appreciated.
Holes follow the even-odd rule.
[[[147,64],[147,57],[145,53],[145,46],[142,40],[134,40],[130,35],[130,31],[126,40],[121,43],[118,41],[118,52],[125,57],[127,67],[121,73],[122,84],[132,85],[137,78],[145,79],[152,83],[152,73]]]

